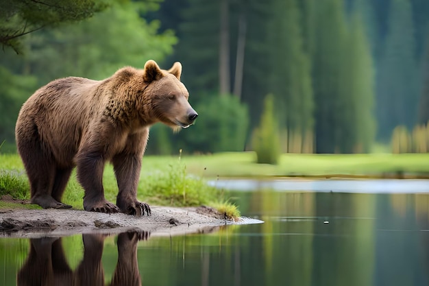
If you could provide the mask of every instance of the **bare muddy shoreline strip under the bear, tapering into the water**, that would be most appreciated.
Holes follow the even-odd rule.
[[[123,213],[94,213],[56,209],[1,209],[0,237],[62,237],[79,233],[117,234],[145,231],[156,236],[210,233],[228,224],[258,223],[225,219],[212,208],[175,208],[151,206],[150,216],[134,217]]]

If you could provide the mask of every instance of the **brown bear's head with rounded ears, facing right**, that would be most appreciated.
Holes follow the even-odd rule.
[[[198,114],[188,102],[189,93],[180,82],[182,64],[175,62],[168,71],[160,69],[154,60],[148,60],[143,71],[147,84],[151,116],[173,129],[188,128]]]

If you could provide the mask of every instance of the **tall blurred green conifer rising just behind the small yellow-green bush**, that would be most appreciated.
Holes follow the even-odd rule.
[[[310,60],[304,51],[300,25],[301,11],[296,0],[275,0],[271,9],[269,91],[275,96],[280,127],[288,131],[287,137],[303,139],[308,131],[312,132],[314,104]]]

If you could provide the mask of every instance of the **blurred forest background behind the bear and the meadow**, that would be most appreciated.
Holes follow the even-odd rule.
[[[182,62],[200,115],[178,134],[154,126],[151,154],[253,150],[262,141],[295,153],[373,152],[375,143],[429,150],[427,0],[106,0],[93,9],[19,45],[2,42],[1,152],[13,150],[19,108],[38,87],[106,78],[150,58],[164,69]],[[267,96],[273,108],[264,108]],[[273,129],[264,112],[275,136],[261,132]]]

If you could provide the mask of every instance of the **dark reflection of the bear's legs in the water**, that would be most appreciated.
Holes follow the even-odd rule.
[[[61,238],[43,237],[30,239],[31,248],[27,261],[17,277],[18,286],[104,286],[101,263],[104,239],[108,235],[84,234],[84,258],[75,271],[71,270]],[[118,236],[118,262],[109,285],[141,285],[137,262],[137,243],[147,240],[145,231],[121,233]]]

